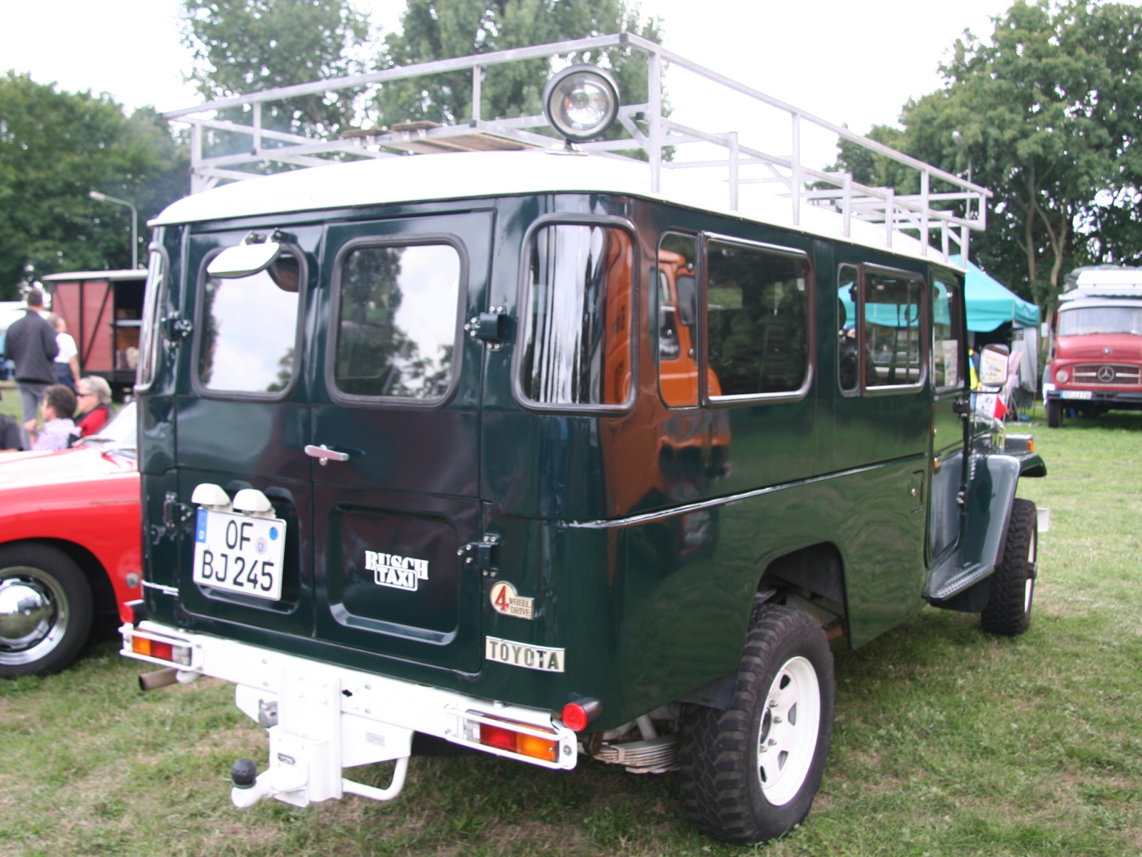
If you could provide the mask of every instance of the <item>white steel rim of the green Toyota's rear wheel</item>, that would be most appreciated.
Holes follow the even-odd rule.
[[[805,784],[821,729],[821,683],[806,659],[786,660],[765,697],[757,728],[757,778],[774,807],[791,801]]]

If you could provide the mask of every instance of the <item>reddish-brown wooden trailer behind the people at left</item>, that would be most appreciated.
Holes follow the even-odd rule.
[[[49,274],[51,310],[79,349],[81,375],[100,375],[119,398],[135,383],[146,270]]]

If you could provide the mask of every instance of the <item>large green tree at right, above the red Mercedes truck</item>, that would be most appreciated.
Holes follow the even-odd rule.
[[[973,181],[995,193],[973,256],[1049,318],[1063,269],[1101,254],[1097,237],[1076,226],[1123,210],[1100,200],[1137,186],[1131,143],[1142,130],[1140,82],[1131,72],[1142,13],[1016,0],[994,22],[990,40],[967,32],[956,41],[941,66],[944,87],[904,105],[903,130],[878,127],[870,136],[958,175],[972,165]],[[838,166],[852,167],[856,181],[917,192],[915,171],[907,182],[877,174],[870,165],[878,159],[863,163],[854,149],[841,146]]]

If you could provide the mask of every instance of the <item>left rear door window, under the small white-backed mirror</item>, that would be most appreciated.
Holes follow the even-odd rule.
[[[198,381],[219,393],[281,393],[297,371],[304,270],[282,253],[249,277],[208,277],[202,288]]]

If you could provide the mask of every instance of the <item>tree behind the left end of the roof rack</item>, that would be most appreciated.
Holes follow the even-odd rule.
[[[184,0],[183,25],[183,42],[194,51],[191,79],[207,99],[364,70],[353,53],[368,39],[369,21],[348,0]],[[336,136],[352,123],[356,94],[339,89],[270,103],[263,125]]]

